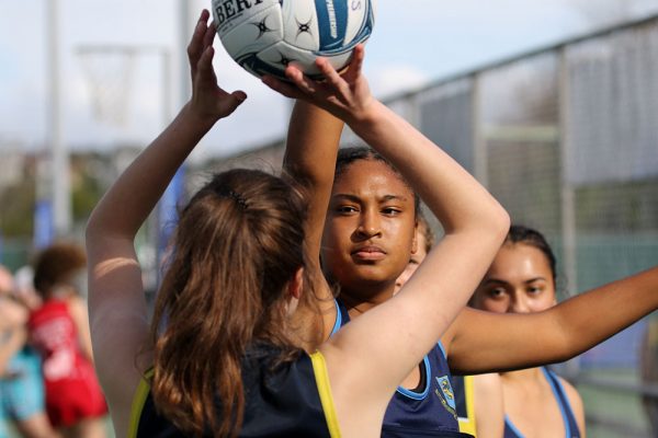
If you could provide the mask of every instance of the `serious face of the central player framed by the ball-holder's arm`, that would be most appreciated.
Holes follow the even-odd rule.
[[[345,293],[392,293],[409,263],[415,230],[411,189],[385,163],[358,160],[333,184],[322,265]]]

